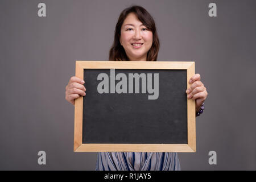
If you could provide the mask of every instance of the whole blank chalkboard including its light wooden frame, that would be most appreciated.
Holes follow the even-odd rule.
[[[194,62],[77,61],[86,96],[75,101],[74,150],[194,152],[195,103],[185,93],[194,70]]]

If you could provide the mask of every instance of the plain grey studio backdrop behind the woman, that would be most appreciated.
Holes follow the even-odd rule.
[[[46,18],[38,3],[46,3]],[[210,2],[217,17],[208,16]],[[73,152],[74,106],[65,86],[75,60],[108,60],[123,9],[154,17],[159,61],[196,61],[208,90],[196,153],[182,170],[255,169],[256,1],[0,1],[0,169],[94,170],[96,152]],[[39,166],[38,151],[46,151]],[[208,152],[217,152],[209,165]]]

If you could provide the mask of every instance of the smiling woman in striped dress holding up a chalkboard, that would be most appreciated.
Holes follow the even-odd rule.
[[[112,61],[156,61],[159,39],[154,19],[140,6],[122,11],[115,26],[114,43],[109,51]],[[196,100],[196,113],[207,98],[207,90],[196,74],[189,80],[188,99]],[[84,80],[71,77],[66,86],[66,100],[85,96]],[[176,152],[99,152],[96,170],[180,170]]]

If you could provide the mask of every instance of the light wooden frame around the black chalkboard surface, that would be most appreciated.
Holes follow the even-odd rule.
[[[184,61],[76,61],[76,77],[84,79],[84,69],[186,69],[187,88],[195,75],[195,62]],[[195,101],[187,100],[188,144],[86,144],[82,143],[83,97],[75,100],[75,152],[196,152]]]

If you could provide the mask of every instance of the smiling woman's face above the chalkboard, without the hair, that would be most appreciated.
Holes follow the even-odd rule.
[[[131,61],[146,61],[153,34],[134,13],[127,15],[121,27],[120,43]]]

